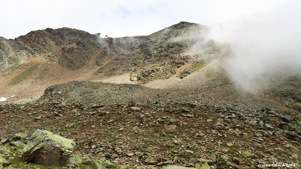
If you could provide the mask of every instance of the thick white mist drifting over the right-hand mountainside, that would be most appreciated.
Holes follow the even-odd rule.
[[[233,56],[226,68],[231,79],[250,92],[301,74],[301,12],[286,4],[262,14],[211,25],[210,38],[229,43]]]

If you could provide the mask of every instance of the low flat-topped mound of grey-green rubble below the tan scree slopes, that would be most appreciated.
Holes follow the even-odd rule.
[[[146,103],[148,98],[145,93],[152,91],[151,88],[133,84],[71,81],[48,87],[38,101],[56,102],[63,100],[65,103],[101,103],[105,105],[126,104],[129,101]]]

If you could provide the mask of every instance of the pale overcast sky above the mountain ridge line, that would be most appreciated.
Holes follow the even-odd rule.
[[[262,13],[279,0],[0,0],[0,36],[16,38],[46,28],[69,27],[101,37],[150,35],[187,21],[209,25]],[[297,2],[297,1],[295,1]]]

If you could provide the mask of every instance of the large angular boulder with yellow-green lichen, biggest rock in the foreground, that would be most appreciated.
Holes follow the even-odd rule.
[[[24,161],[42,165],[64,165],[70,158],[75,142],[36,128],[22,152]]]

